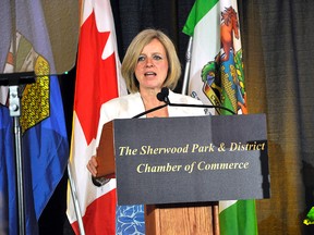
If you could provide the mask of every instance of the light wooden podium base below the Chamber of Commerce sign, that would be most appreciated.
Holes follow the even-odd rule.
[[[218,213],[215,202],[145,206],[146,234],[218,235]]]

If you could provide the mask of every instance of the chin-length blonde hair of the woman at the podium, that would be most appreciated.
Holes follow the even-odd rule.
[[[165,47],[169,63],[168,75],[164,86],[168,87],[169,89],[174,89],[178,84],[181,75],[181,64],[177,55],[174,45],[161,30],[149,28],[142,30],[131,41],[121,65],[122,76],[124,77],[128,90],[131,94],[140,91],[140,84],[135,77],[135,67],[138,57],[143,51],[143,48],[155,38],[158,39]]]

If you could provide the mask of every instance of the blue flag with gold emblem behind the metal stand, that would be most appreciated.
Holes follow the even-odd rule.
[[[25,226],[26,234],[36,235],[37,221],[63,176],[69,158],[63,104],[58,77],[49,76],[56,70],[41,2],[4,0],[1,15],[5,18],[0,26],[1,73],[34,71],[40,75],[35,83],[20,86]],[[0,208],[4,207],[0,231],[17,234],[13,118],[8,108],[8,87],[2,86],[0,91]]]

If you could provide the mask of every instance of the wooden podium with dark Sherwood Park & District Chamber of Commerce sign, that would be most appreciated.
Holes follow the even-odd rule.
[[[265,114],[113,120],[97,161],[146,234],[217,235],[217,201],[270,197]]]

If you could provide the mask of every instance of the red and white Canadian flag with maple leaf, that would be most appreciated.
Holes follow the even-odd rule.
[[[101,132],[97,129],[101,104],[126,95],[126,88],[120,75],[110,1],[85,0],[82,12],[70,170],[86,233],[114,234],[116,180],[96,187],[86,164],[96,152],[97,132]],[[73,230],[78,234],[78,222],[70,191],[71,187],[68,190],[67,213]]]

